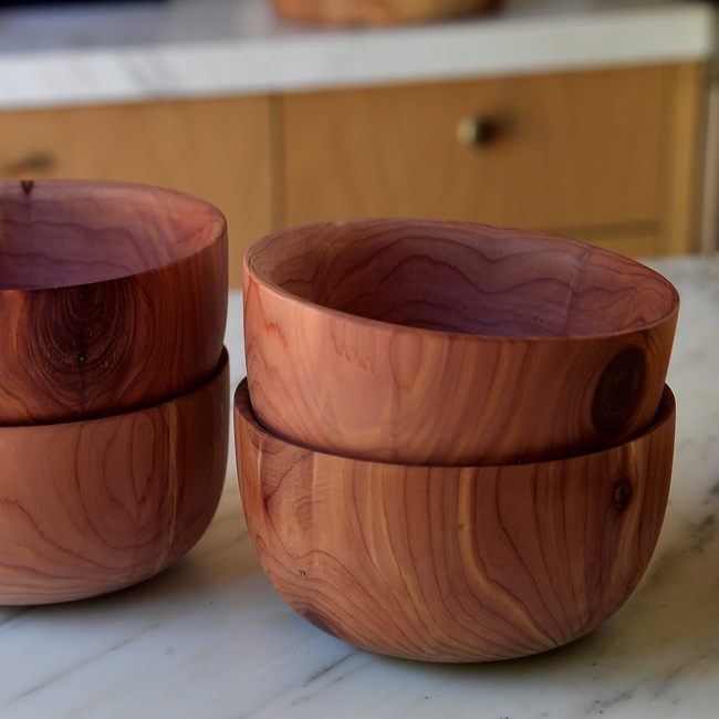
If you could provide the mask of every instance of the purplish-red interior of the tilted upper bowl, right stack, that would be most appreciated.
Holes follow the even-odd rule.
[[[678,310],[628,258],[550,236],[460,222],[350,220],[292,228],[250,271],[302,300],[425,330],[517,337],[616,334]]]

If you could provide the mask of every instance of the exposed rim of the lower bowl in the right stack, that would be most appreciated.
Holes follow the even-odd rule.
[[[675,421],[676,420],[676,414],[677,414],[677,400],[674,392],[671,390],[671,387],[669,387],[668,384],[664,385],[664,389],[661,392],[661,399],[659,402],[659,406],[657,408],[656,415],[654,417],[654,420],[652,425],[642,434],[636,435],[629,439],[626,439],[623,442],[619,442],[618,445],[613,445],[611,447],[605,447],[604,449],[596,449],[593,451],[588,452],[570,452],[567,455],[561,456],[561,457],[552,457],[551,459],[542,459],[539,461],[515,461],[511,463],[501,463],[501,462],[482,462],[479,465],[428,465],[428,463],[407,463],[407,462],[395,462],[395,461],[379,461],[376,459],[363,459],[359,457],[352,457],[348,455],[342,455],[340,452],[335,451],[329,451],[326,449],[316,449],[314,447],[310,447],[308,445],[302,445],[301,442],[293,441],[291,439],[288,439],[285,437],[281,437],[280,435],[275,435],[272,430],[268,429],[260,423],[258,419],[257,415],[254,414],[254,409],[252,408],[252,402],[250,399],[250,389],[249,389],[249,383],[248,383],[248,377],[244,377],[240,384],[237,386],[233,397],[232,397],[232,408],[233,408],[233,414],[237,414],[240,416],[241,420],[252,427],[254,431],[257,431],[261,437],[268,438],[271,441],[279,441],[282,445],[285,445],[288,447],[292,447],[294,449],[299,449],[302,451],[308,451],[313,455],[320,455],[320,456],[326,456],[326,457],[334,457],[343,460],[348,460],[355,463],[361,463],[361,465],[373,465],[376,467],[408,467],[408,468],[424,468],[424,469],[455,469],[457,471],[460,471],[462,469],[481,469],[483,467],[487,468],[507,468],[510,469],[513,467],[541,467],[541,466],[550,466],[550,465],[555,465],[559,462],[565,462],[570,460],[576,460],[583,457],[593,457],[593,456],[601,456],[601,455],[609,455],[609,454],[615,454],[617,451],[622,451],[623,448],[628,447],[633,445],[634,442],[637,441],[644,441],[645,439],[648,439],[653,434],[660,431],[667,423]],[[237,451],[240,451],[239,445],[237,447]]]

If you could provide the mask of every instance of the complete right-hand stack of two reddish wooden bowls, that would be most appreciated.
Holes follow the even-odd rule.
[[[519,230],[355,220],[258,242],[235,417],[271,582],[325,632],[414,659],[596,627],[661,525],[678,305],[633,260]]]

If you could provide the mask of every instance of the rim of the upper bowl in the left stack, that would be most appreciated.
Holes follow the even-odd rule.
[[[31,180],[31,181],[33,187],[34,186],[50,187],[53,190],[59,190],[62,189],[63,187],[66,187],[69,189],[84,190],[84,192],[86,192],[84,197],[92,197],[92,190],[105,191],[105,192],[107,191],[116,192],[116,191],[124,190],[124,191],[131,191],[137,194],[142,194],[142,192],[147,194],[149,191],[156,196],[160,195],[165,197],[175,197],[177,199],[184,199],[185,201],[190,201],[197,208],[205,208],[208,219],[207,221],[204,222],[204,227],[208,228],[206,230],[208,240],[202,244],[201,248],[199,248],[194,252],[190,252],[189,254],[186,254],[185,257],[180,257],[176,260],[171,260],[170,262],[166,262],[165,264],[158,264],[156,267],[148,268],[147,270],[143,270],[140,272],[119,274],[117,277],[110,277],[102,280],[93,280],[92,282],[75,282],[73,284],[53,284],[53,285],[41,286],[41,288],[3,289],[2,286],[0,286],[0,296],[2,295],[10,296],[11,293],[20,293],[25,295],[28,293],[48,292],[50,290],[53,291],[70,290],[72,288],[79,288],[79,286],[92,288],[92,286],[97,286],[98,284],[128,280],[131,278],[146,278],[158,271],[164,271],[168,268],[173,268],[183,262],[188,262],[189,260],[191,260],[191,258],[199,257],[205,252],[209,252],[211,248],[213,248],[217,244],[218,241],[221,241],[223,237],[227,238],[227,219],[222,213],[222,211],[211,202],[208,202],[207,200],[204,200],[188,192],[183,192],[180,190],[175,190],[168,187],[160,187],[156,185],[146,185],[143,183],[126,183],[126,181],[117,181],[117,180],[39,179],[39,180]],[[20,186],[22,188],[23,183],[25,181],[24,180],[0,181],[0,200],[2,199],[3,190],[6,188],[11,188],[12,186]]]

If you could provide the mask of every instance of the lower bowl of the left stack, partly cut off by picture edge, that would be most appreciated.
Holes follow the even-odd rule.
[[[227,468],[227,352],[216,369],[138,411],[0,428],[0,604],[119,590],[197,542]]]

